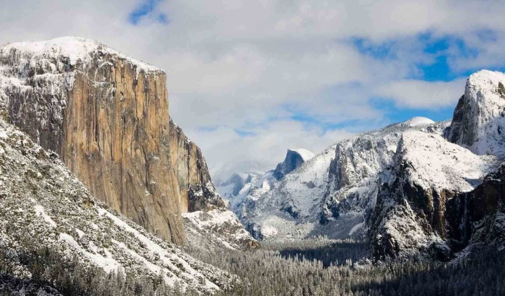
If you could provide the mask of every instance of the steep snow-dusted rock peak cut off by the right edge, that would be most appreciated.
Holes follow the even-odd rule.
[[[483,155],[505,155],[505,74],[472,74],[446,131],[447,139]]]

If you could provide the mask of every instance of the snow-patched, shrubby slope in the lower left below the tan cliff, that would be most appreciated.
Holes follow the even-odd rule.
[[[226,287],[225,272],[184,254],[94,199],[54,153],[0,119],[0,246],[29,278],[23,250],[49,248],[106,272],[162,278],[200,291]]]

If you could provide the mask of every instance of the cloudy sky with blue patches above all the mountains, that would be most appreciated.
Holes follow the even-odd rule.
[[[0,2],[0,45],[81,36],[163,68],[170,114],[214,179],[449,119],[470,74],[505,70],[501,1]]]

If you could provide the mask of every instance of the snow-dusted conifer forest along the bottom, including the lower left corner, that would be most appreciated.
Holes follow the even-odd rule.
[[[459,263],[375,263],[362,259],[359,240],[306,239],[264,242],[250,251],[187,249],[193,257],[235,274],[232,289],[217,296],[386,296],[505,295],[505,253],[481,253]],[[57,254],[26,253],[31,279],[13,276],[0,260],[0,295],[198,295],[168,287],[161,280],[130,274],[107,275],[99,269],[65,262]]]

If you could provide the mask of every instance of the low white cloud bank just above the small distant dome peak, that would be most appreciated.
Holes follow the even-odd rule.
[[[233,128],[224,126],[211,131],[185,132],[191,138],[199,139],[200,148],[207,152],[205,157],[209,166],[215,168],[216,178],[226,178],[236,169],[274,169],[284,159],[287,149],[304,147],[318,153],[352,134],[344,129],[325,133],[317,126],[305,126],[293,120],[276,121],[247,129],[251,133],[247,136],[240,136]],[[247,167],[251,164],[254,168]]]

